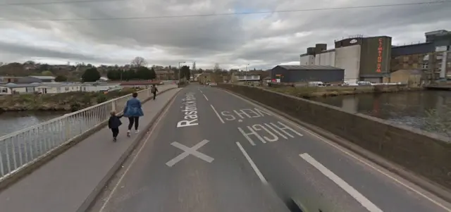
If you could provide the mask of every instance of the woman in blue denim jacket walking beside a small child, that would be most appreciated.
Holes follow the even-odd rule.
[[[128,131],[127,136],[130,137],[130,130],[132,130],[133,124],[135,124],[135,133],[140,132],[138,127],[140,126],[140,116],[144,116],[142,112],[142,105],[140,99],[137,99],[138,93],[132,94],[132,99],[128,99],[124,108],[124,116],[128,117]]]

